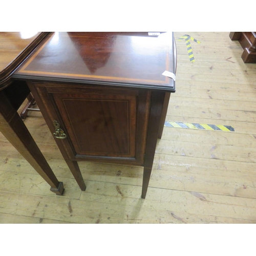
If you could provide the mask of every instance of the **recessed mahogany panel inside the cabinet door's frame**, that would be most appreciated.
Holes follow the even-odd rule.
[[[135,157],[136,96],[53,97],[77,155]]]

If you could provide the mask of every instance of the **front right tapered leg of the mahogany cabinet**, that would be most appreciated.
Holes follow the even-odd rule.
[[[158,139],[160,124],[161,124],[164,99],[165,99],[165,93],[154,92],[154,91],[152,92],[150,117],[148,120],[141,198],[146,197],[148,183],[150,182],[150,176],[152,172],[152,166],[153,166],[153,161],[154,161],[154,156],[156,151],[157,139]]]

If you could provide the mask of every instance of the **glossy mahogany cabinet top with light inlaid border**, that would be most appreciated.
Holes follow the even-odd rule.
[[[13,77],[175,92],[172,32],[53,32]]]

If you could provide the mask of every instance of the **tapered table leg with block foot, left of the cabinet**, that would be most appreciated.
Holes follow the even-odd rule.
[[[22,118],[2,91],[0,91],[0,132],[51,186],[50,190],[57,195],[62,195],[63,183],[57,180]]]

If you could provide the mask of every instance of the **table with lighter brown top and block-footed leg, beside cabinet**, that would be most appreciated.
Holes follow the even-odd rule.
[[[40,152],[23,120],[17,113],[30,94],[24,81],[13,81],[12,73],[44,40],[49,32],[37,32],[29,38],[21,32],[0,32],[0,132],[33,166],[36,172],[51,186],[57,195],[63,193],[59,182]]]

